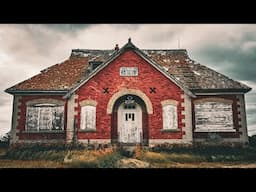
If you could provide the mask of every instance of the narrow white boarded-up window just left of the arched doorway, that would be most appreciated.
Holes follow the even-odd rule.
[[[96,107],[86,105],[81,107],[81,124],[82,130],[96,130]]]

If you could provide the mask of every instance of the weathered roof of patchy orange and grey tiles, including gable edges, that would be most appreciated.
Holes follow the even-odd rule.
[[[73,49],[68,60],[44,69],[40,74],[5,91],[10,94],[51,92],[69,97],[126,50],[133,50],[192,97],[201,92],[245,93],[251,90],[250,87],[191,60],[184,49],[140,50],[129,39],[118,51]],[[90,61],[103,63],[90,72]]]

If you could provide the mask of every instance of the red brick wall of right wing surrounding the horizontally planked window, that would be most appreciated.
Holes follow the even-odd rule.
[[[229,99],[233,101],[232,104],[232,111],[233,111],[233,125],[236,130],[236,132],[216,132],[218,135],[220,135],[222,138],[239,138],[242,132],[239,132],[239,128],[241,125],[239,125],[239,121],[241,121],[240,118],[238,118],[238,107],[240,107],[237,104],[237,98],[235,95],[218,95],[218,96],[197,96],[196,99],[192,99],[192,124],[193,124],[193,138],[207,138],[208,133],[207,132],[194,132],[195,130],[195,112],[194,112],[194,101],[198,99],[208,98],[208,97],[215,97],[215,98],[223,98],[223,99]],[[213,132],[211,132],[213,133]]]

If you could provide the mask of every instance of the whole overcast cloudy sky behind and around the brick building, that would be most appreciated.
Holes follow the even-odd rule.
[[[71,49],[113,49],[129,37],[139,48],[187,49],[191,59],[252,87],[247,122],[256,134],[256,24],[0,24],[0,135],[11,127],[6,88],[64,61]]]

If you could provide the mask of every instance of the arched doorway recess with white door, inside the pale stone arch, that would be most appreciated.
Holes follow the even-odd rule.
[[[111,122],[112,143],[147,144],[148,114],[144,101],[136,95],[124,95],[116,100]]]

